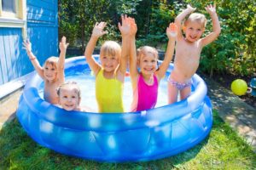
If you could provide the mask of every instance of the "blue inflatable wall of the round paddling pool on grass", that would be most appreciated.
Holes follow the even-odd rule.
[[[66,73],[89,69],[84,57],[67,59],[65,67]],[[195,146],[212,127],[207,86],[197,75],[188,99],[122,114],[64,111],[44,101],[40,88],[42,79],[35,74],[20,96],[17,117],[38,144],[69,156],[111,162],[160,159]]]

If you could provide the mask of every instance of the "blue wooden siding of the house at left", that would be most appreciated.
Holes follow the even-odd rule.
[[[41,65],[58,55],[58,1],[26,1],[27,37]],[[21,28],[0,27],[0,86],[33,71],[22,49]]]

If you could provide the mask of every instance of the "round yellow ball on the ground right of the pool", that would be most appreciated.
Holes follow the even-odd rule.
[[[231,90],[236,95],[244,95],[247,93],[247,82],[241,79],[236,79],[231,83]]]

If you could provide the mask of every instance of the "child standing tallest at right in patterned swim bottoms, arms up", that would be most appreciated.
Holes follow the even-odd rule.
[[[212,19],[213,31],[206,37],[202,37],[207,24],[204,14],[192,13],[195,8],[187,5],[181,14],[178,14],[175,23],[177,25],[176,54],[174,59],[174,69],[168,79],[168,103],[177,101],[177,94],[180,91],[180,99],[185,99],[191,92],[191,77],[195,74],[199,66],[201,49],[213,42],[220,33],[218,15],[215,5],[208,5],[207,12]],[[189,18],[183,22],[188,15]],[[183,37],[183,32],[185,37]]]

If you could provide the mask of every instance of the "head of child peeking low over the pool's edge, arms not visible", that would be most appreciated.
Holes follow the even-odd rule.
[[[76,111],[80,104],[79,89],[73,84],[65,84],[59,88],[59,105],[66,111]]]

